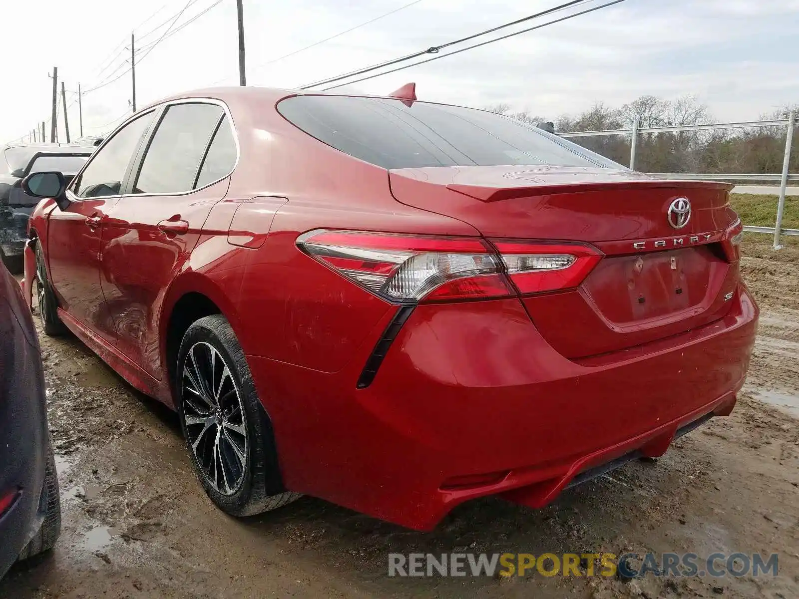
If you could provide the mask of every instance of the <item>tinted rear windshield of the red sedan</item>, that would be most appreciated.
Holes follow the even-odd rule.
[[[332,147],[385,169],[553,165],[624,169],[589,150],[485,110],[380,97],[296,96],[284,117]]]

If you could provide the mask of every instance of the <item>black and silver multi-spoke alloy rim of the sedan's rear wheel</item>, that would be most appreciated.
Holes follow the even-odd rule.
[[[195,343],[181,380],[186,437],[214,490],[232,495],[244,481],[247,429],[244,405],[230,368],[210,343]]]

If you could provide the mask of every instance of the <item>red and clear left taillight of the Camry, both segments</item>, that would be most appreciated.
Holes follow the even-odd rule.
[[[493,244],[493,245],[492,245]],[[311,231],[297,246],[360,287],[396,303],[481,300],[582,283],[602,254],[581,244]],[[510,276],[513,284],[508,281]]]

